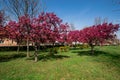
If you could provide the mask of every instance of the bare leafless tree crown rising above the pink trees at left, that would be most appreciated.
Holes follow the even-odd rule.
[[[25,14],[33,18],[43,11],[42,0],[2,0],[1,5],[16,19]]]

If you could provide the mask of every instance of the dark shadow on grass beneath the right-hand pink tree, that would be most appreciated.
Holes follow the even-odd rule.
[[[94,54],[90,53],[90,50],[86,51],[73,51],[72,53],[77,53],[78,56],[93,56],[96,62],[104,62],[113,66],[120,68],[120,54],[114,52],[105,51],[94,51]],[[120,69],[118,69],[120,70]]]

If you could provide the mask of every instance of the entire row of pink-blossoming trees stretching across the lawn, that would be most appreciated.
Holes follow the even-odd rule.
[[[9,21],[6,25],[2,24],[0,17],[0,39],[9,38],[17,42],[18,52],[21,42],[25,41],[27,46],[34,43],[35,61],[38,60],[37,46],[40,44],[55,44],[72,42],[88,43],[91,47],[91,53],[96,44],[104,43],[108,39],[115,37],[119,25],[112,23],[103,23],[93,25],[82,30],[69,30],[69,25],[64,24],[62,20],[54,13],[41,13],[37,18],[30,18],[28,15],[19,17],[18,21]],[[29,47],[28,47],[29,48]],[[29,49],[28,49],[29,50]],[[27,53],[29,57],[29,53]]]

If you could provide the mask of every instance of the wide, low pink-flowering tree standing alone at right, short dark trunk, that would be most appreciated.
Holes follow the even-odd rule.
[[[83,43],[88,43],[93,54],[94,46],[98,43],[103,43],[105,40],[114,38],[115,32],[118,29],[119,25],[113,25],[112,23],[87,27],[80,31],[79,40]]]

